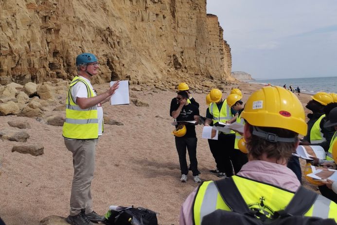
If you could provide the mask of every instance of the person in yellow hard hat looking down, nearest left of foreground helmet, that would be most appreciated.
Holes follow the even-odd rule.
[[[228,106],[237,112],[236,123],[245,124],[244,119],[241,118],[241,112],[244,111],[244,103],[242,101],[242,96],[238,94],[230,94],[226,98]],[[231,163],[233,165],[233,169],[235,174],[237,174],[243,165],[248,162],[247,154],[242,152],[239,149],[238,143],[242,138],[242,133],[235,131],[235,142],[234,142],[234,151],[231,153]]]

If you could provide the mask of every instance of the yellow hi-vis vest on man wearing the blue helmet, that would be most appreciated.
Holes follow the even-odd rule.
[[[81,109],[72,100],[71,87],[77,82],[83,82],[87,86],[88,97],[95,95],[85,79],[80,76],[75,76],[72,79],[66,100],[66,121],[63,124],[62,135],[70,139],[96,139],[98,138],[97,105],[88,109]]]

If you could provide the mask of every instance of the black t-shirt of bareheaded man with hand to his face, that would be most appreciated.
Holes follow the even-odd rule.
[[[170,110],[172,113],[175,110]],[[177,117],[177,121],[192,121],[194,120],[194,116],[199,115],[199,109],[195,105],[188,104],[187,106],[183,106],[180,114]],[[186,134],[184,137],[196,137],[195,133],[195,125],[193,124],[185,124],[186,126]],[[176,126],[177,127],[177,126]]]

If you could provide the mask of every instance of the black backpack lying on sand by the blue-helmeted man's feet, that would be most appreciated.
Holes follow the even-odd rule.
[[[109,210],[106,225],[158,225],[157,213],[150,209],[124,207],[121,210]]]

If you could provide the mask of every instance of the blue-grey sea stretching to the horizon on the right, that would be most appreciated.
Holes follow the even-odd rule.
[[[268,84],[281,86],[284,84],[289,89],[299,86],[301,93],[315,94],[317,92],[337,93],[337,76],[328,77],[306,77],[306,78],[287,78],[287,79],[255,79],[246,81],[249,83]]]

